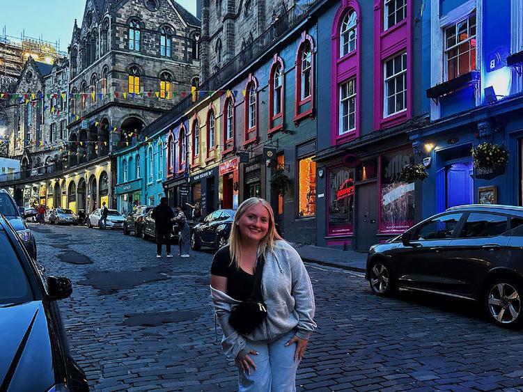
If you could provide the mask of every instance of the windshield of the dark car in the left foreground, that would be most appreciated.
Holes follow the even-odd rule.
[[[8,240],[6,232],[0,231],[0,306],[32,301],[33,294],[27,276]]]

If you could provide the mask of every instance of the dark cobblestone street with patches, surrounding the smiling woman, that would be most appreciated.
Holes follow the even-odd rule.
[[[31,225],[48,274],[70,277],[61,313],[92,389],[234,391],[209,291],[212,252],[156,258],[121,231]],[[176,253],[176,252],[173,252]],[[316,297],[299,390],[522,389],[523,334],[468,301],[372,295],[362,274],[307,265]]]

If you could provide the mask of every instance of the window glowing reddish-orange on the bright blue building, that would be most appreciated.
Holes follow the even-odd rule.
[[[446,79],[476,70],[476,14],[445,29]]]

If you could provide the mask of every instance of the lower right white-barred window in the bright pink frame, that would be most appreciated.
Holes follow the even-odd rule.
[[[385,61],[384,116],[407,110],[407,54]]]

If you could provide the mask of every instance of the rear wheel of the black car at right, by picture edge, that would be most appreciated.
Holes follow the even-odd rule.
[[[496,279],[487,287],[485,307],[490,320],[501,327],[517,327],[522,324],[523,288],[508,278]]]

